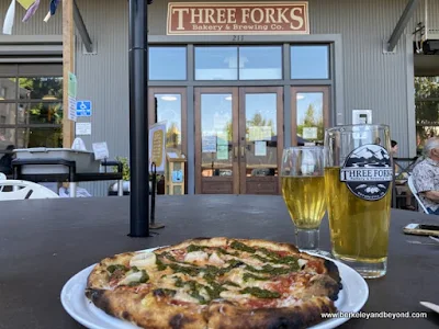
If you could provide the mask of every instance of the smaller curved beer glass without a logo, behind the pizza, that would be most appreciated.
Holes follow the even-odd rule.
[[[324,147],[290,147],[283,150],[282,196],[295,226],[296,247],[318,250],[319,226],[326,212]]]

